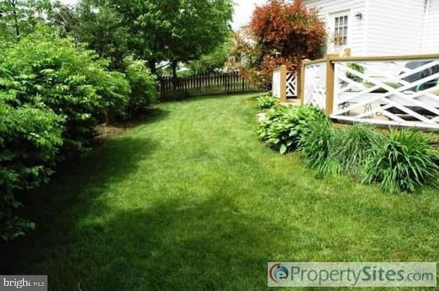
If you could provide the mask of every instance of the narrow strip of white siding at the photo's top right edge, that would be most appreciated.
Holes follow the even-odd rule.
[[[439,53],[439,0],[430,0],[425,24],[424,53]]]

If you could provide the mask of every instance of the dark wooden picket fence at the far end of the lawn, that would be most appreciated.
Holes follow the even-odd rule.
[[[209,73],[189,77],[161,77],[161,100],[205,94],[230,94],[241,92],[259,92],[258,86],[250,83],[238,72]]]

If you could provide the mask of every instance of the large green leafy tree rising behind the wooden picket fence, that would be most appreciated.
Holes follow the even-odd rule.
[[[85,1],[85,0],[84,0]],[[89,0],[86,0],[89,1]],[[128,50],[156,65],[197,60],[224,42],[230,31],[230,0],[95,0],[95,11],[112,10],[126,29]],[[102,34],[102,31],[99,31]]]

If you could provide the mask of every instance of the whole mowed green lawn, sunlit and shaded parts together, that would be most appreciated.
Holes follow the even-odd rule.
[[[0,273],[49,275],[50,290],[267,290],[267,262],[438,260],[438,192],[317,179],[257,140],[255,97],[163,103],[60,170],[27,194],[38,228],[1,245]]]

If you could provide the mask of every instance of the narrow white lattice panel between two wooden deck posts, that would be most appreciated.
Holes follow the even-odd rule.
[[[303,103],[325,110],[327,99],[327,62],[312,62],[304,66]]]

